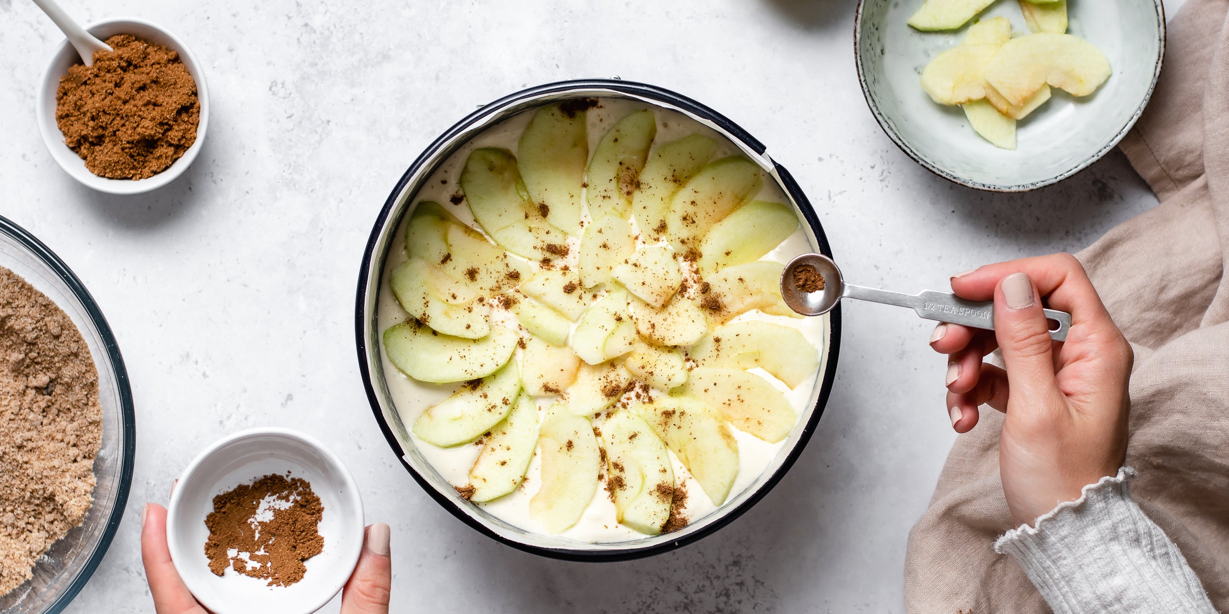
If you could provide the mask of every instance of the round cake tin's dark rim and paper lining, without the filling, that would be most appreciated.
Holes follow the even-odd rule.
[[[718,510],[720,511],[720,516],[705,522],[694,530],[680,533],[678,537],[673,539],[662,539],[658,543],[642,546],[610,549],[549,548],[526,544],[493,530],[473,515],[465,511],[461,507],[461,502],[457,500],[458,497],[455,496],[455,492],[441,492],[429,479],[422,475],[409,464],[409,462],[406,460],[402,445],[385,418],[381,405],[381,395],[376,391],[375,379],[372,377],[372,370],[382,368],[380,362],[380,335],[376,330],[375,322],[375,301],[379,296],[380,280],[383,271],[383,260],[390,244],[386,237],[391,232],[396,231],[396,225],[399,223],[406,208],[401,208],[396,219],[391,219],[391,216],[393,210],[398,209],[397,205],[403,200],[403,196],[408,200],[409,196],[417,193],[420,184],[425,182],[433,172],[435,172],[439,165],[452,155],[456,149],[465,145],[465,142],[467,142],[468,139],[478,131],[528,108],[533,108],[554,99],[578,96],[621,96],[638,98],[659,107],[680,111],[689,115],[692,119],[717,129],[717,131],[725,135],[745,152],[751,154],[752,157],[757,157],[763,163],[771,166],[771,168],[775,172],[777,179],[779,179],[785,195],[793,201],[795,209],[801,212],[803,219],[806,220],[809,230],[815,236],[815,242],[819,246],[820,252],[828,257],[832,255],[832,248],[828,244],[827,236],[823,233],[823,227],[820,225],[820,220],[816,216],[815,210],[811,208],[810,201],[806,199],[806,195],[794,181],[793,176],[790,176],[783,166],[778,165],[764,154],[766,147],[763,144],[725,115],[721,115],[712,108],[686,96],[648,84],[623,81],[621,79],[558,81],[521,90],[479,107],[478,111],[471,113],[461,122],[457,122],[452,125],[452,128],[447,129],[444,134],[435,139],[435,141],[431,142],[417,160],[414,160],[406,173],[402,174],[401,179],[390,193],[388,199],[385,201],[383,208],[380,210],[380,215],[376,216],[371,236],[367,239],[367,244],[363,254],[363,264],[359,269],[358,292],[355,297],[355,341],[358,346],[359,371],[363,375],[363,386],[367,392],[367,400],[371,404],[371,411],[375,414],[376,422],[379,422],[380,430],[383,431],[385,438],[388,441],[388,446],[392,448],[393,453],[397,454],[397,459],[406,468],[406,470],[409,472],[410,476],[414,478],[414,481],[417,481],[419,486],[422,486],[423,490],[435,500],[436,503],[442,506],[452,513],[452,516],[456,516],[461,522],[466,523],[478,533],[519,550],[541,556],[573,561],[622,561],[667,553],[715,533],[760,502],[760,500],[763,499],[764,495],[767,495],[780,481],[785,473],[789,472],[794,462],[798,460],[799,456],[801,456],[803,449],[806,448],[806,443],[815,432],[820,416],[823,414],[823,408],[827,405],[828,395],[832,392],[832,384],[836,378],[837,355],[839,354],[841,348],[841,309],[837,307],[836,309],[832,309],[830,314],[826,359],[827,366],[821,375],[822,381],[820,382],[820,391],[815,409],[811,411],[811,416],[806,424],[801,426],[801,432],[794,447],[788,451],[782,463],[775,468],[775,470],[773,470],[772,475],[769,475],[760,485],[758,489],[747,494],[746,499],[728,510],[723,511],[719,507]],[[415,181],[417,184],[409,185],[412,181]],[[412,189],[407,190],[407,187]],[[386,227],[390,223],[393,225],[393,228],[386,232]],[[381,244],[381,242],[383,242],[383,244]],[[379,254],[376,254],[377,251],[380,252]]]

